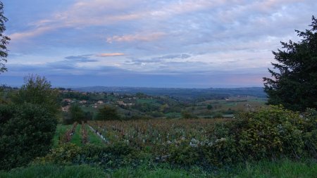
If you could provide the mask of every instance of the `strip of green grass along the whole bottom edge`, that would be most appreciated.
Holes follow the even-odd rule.
[[[245,163],[230,169],[214,172],[204,172],[199,168],[191,170],[176,170],[168,168],[148,168],[140,166],[120,168],[111,172],[104,172],[98,167],[89,165],[31,165],[25,168],[13,169],[9,172],[0,172],[0,177],[316,177],[316,160],[292,160],[261,161],[258,163]]]

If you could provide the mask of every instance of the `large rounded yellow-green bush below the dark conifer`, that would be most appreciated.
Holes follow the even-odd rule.
[[[271,106],[254,113],[242,113],[227,127],[228,136],[235,139],[244,159],[259,160],[283,156],[302,158],[313,152],[316,157],[316,139],[313,140],[316,127],[313,129],[313,125],[316,125],[316,115],[304,117],[281,106]]]

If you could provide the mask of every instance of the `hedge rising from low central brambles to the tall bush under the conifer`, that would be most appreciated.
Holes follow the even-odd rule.
[[[206,141],[170,142],[165,154],[169,163],[204,167],[268,158],[317,158],[316,118],[313,109],[299,115],[281,106],[270,106],[216,124]]]

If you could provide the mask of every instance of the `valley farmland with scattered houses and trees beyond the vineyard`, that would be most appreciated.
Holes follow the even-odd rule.
[[[104,106],[111,106],[118,111],[121,120],[140,118],[213,118],[234,117],[235,114],[254,111],[265,106],[267,99],[261,88],[253,89],[201,89],[199,94],[191,94],[191,89],[152,89],[151,92],[132,93],[134,90],[118,91],[73,91],[60,90],[63,106],[64,123],[73,123],[68,114],[68,108],[80,106],[89,120],[97,117],[98,111]],[[249,91],[249,94],[245,91]],[[127,93],[130,92],[130,93]],[[226,93],[228,92],[228,93]],[[185,96],[185,94],[187,94]]]

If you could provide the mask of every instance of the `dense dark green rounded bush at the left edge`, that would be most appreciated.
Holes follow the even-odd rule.
[[[48,153],[57,121],[46,108],[0,105],[0,170],[26,165]]]

